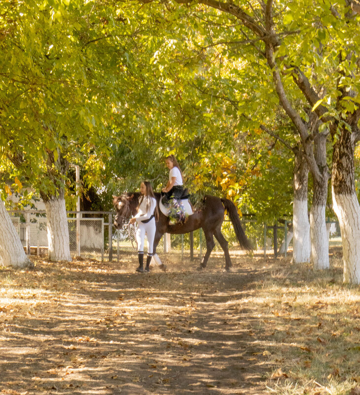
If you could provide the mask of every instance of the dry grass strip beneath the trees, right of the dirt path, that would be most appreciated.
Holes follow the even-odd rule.
[[[330,270],[280,260],[256,289],[258,321],[274,394],[355,393],[360,382],[360,291],[342,283],[341,253]]]

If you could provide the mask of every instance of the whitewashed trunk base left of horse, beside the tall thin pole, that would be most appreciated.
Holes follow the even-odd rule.
[[[71,261],[69,227],[65,199],[52,197],[45,202],[49,260]]]

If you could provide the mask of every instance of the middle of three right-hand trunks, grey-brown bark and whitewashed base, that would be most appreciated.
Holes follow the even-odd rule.
[[[311,262],[315,270],[323,270],[330,267],[329,239],[326,231],[325,216],[327,181],[329,178],[326,165],[325,134],[316,134],[314,151],[320,175],[313,175],[314,193],[313,204],[310,210]]]

